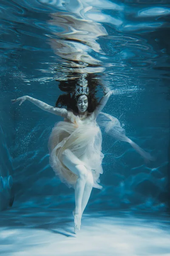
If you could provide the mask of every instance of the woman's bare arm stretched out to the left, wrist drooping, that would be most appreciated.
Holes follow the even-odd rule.
[[[13,103],[20,102],[19,105],[21,105],[26,99],[29,100],[30,102],[32,102],[37,107],[44,110],[44,111],[53,113],[53,114],[58,115],[58,116],[63,116],[63,117],[67,116],[67,110],[65,108],[54,108],[53,106],[48,105],[45,102],[42,102],[38,99],[34,99],[34,98],[32,98],[30,96],[27,96],[27,95],[23,96],[23,97],[20,97],[20,98],[17,98],[17,99],[11,99],[11,101]]]

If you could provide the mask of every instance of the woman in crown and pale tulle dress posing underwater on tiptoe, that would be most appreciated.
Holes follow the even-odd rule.
[[[56,175],[68,187],[75,189],[74,232],[80,229],[82,213],[88,203],[93,187],[102,189],[99,185],[99,175],[102,174],[101,152],[102,134],[98,123],[105,127],[105,131],[118,140],[130,143],[144,158],[151,159],[150,155],[142,150],[125,136],[125,130],[115,117],[102,113],[112,91],[102,97],[98,104],[91,98],[91,93],[86,86],[77,85],[72,97],[68,94],[60,96],[56,107],[52,107],[30,96],[13,99],[20,105],[27,99],[44,111],[64,117],[58,122],[49,137],[48,148],[50,151],[50,164]],[[66,108],[57,108],[58,105]]]

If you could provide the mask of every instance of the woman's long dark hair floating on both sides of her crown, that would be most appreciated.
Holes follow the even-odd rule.
[[[88,94],[88,113],[93,112],[98,105],[98,98],[96,97],[97,87],[102,87],[102,83],[99,77],[96,77],[94,74],[87,74],[85,78],[88,82],[89,94]],[[57,99],[56,108],[62,108],[65,106],[67,110],[73,111],[75,114],[78,114],[77,108],[77,99],[80,95],[75,98],[75,87],[79,81],[77,79],[69,79],[67,81],[59,81],[59,89],[67,93],[62,94]]]

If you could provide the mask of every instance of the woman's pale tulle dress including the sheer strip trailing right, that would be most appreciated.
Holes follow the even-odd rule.
[[[78,176],[62,163],[62,154],[66,154],[75,165],[81,160],[87,169],[91,169],[94,187],[102,189],[99,176],[103,173],[104,155],[102,154],[102,132],[99,126],[103,126],[105,132],[116,140],[130,143],[145,159],[152,160],[149,153],[126,137],[125,130],[118,119],[103,112],[97,119],[94,119],[92,115],[75,116],[74,113],[68,111],[67,118],[55,124],[48,140],[50,165],[55,174],[69,188],[74,188]]]

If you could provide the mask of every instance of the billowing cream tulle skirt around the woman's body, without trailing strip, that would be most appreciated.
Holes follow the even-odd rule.
[[[75,186],[78,176],[71,172],[62,162],[65,154],[71,163],[83,165],[91,170],[94,178],[94,187],[102,189],[99,185],[99,176],[103,173],[102,159],[102,134],[99,126],[91,124],[72,123],[67,121],[57,122],[48,140],[50,152],[50,165],[60,180],[66,186]]]

